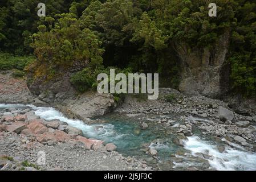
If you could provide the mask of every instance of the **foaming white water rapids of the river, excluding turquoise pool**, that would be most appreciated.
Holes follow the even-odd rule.
[[[25,105],[5,105],[0,104],[0,109],[3,107],[26,107]],[[27,105],[31,107],[35,114],[39,117],[50,121],[51,119],[59,119],[60,121],[67,122],[68,125],[81,129],[84,134],[91,138],[101,138],[108,141],[115,141],[117,138],[125,138],[125,134],[118,133],[115,126],[112,124],[104,123],[98,125],[86,125],[83,121],[77,119],[68,119],[64,117],[62,113],[52,107],[36,107],[33,105]],[[193,136],[188,137],[188,140],[184,140],[184,148],[196,155],[197,152],[203,154],[208,153],[210,158],[208,159],[210,167],[217,170],[256,170],[256,153],[249,152],[240,148],[231,148],[225,146],[224,152],[219,152],[217,146],[211,144],[208,141],[200,139],[200,137]],[[235,145],[235,144],[234,144]],[[162,144],[151,145],[152,148],[166,147]],[[208,151],[208,152],[206,152]],[[182,164],[181,164],[182,165]]]

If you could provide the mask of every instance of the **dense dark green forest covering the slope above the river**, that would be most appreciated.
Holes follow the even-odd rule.
[[[216,0],[210,17],[207,0],[45,0],[46,17],[37,16],[37,0],[1,0],[0,69],[7,55],[28,56],[22,67],[48,79],[72,72],[71,82],[84,91],[96,73],[108,67],[160,73],[177,88],[180,64],[174,45],[212,47],[225,31],[231,40],[227,61],[234,92],[256,93],[256,3]],[[15,59],[10,55],[10,59]],[[10,61],[10,63],[13,63]],[[21,74],[22,75],[22,74]]]

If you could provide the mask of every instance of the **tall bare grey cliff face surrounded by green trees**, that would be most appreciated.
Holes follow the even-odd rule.
[[[220,36],[212,48],[190,47],[185,43],[174,45],[181,61],[181,92],[220,97],[228,90],[229,67],[226,54],[229,47],[230,32]]]

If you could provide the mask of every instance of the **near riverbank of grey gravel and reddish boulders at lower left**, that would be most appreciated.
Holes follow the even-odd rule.
[[[146,162],[124,158],[112,143],[87,139],[58,120],[45,121],[30,109],[0,112],[1,170],[150,170]],[[39,154],[46,156],[38,164]]]

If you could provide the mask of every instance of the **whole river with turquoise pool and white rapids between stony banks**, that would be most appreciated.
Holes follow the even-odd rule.
[[[125,156],[135,156],[147,160],[149,164],[158,166],[160,169],[186,169],[189,166],[207,169],[204,166],[205,160],[198,159],[197,154],[209,155],[209,168],[217,170],[255,170],[256,154],[245,151],[242,147],[225,146],[223,153],[217,149],[218,143],[210,138],[205,138],[196,133],[193,137],[184,140],[185,146],[180,147],[174,144],[171,128],[165,124],[157,123],[159,118],[170,118],[170,115],[140,115],[140,114],[110,114],[95,119],[95,124],[87,125],[77,119],[68,119],[58,110],[52,107],[35,107],[33,105],[8,104],[1,105],[0,110],[15,107],[25,109],[30,107],[39,117],[50,121],[59,119],[67,122],[68,125],[77,127],[83,131],[87,138],[97,138],[105,142],[114,143],[117,151]],[[173,127],[178,126],[179,117],[172,117],[175,121]],[[195,118],[190,118],[195,119]],[[104,122],[101,122],[101,121]],[[140,123],[145,121],[149,127],[147,130],[140,130]],[[177,122],[176,122],[177,121]],[[223,143],[222,143],[223,144]],[[146,151],[155,148],[158,151],[157,158],[152,158]],[[173,157],[180,158],[180,162],[172,162]]]

